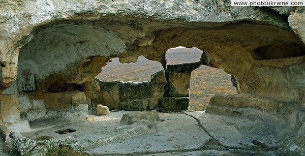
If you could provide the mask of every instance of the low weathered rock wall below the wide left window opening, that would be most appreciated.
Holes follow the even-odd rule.
[[[150,82],[100,81],[85,83],[84,92],[92,102],[122,110],[158,109],[164,95],[164,84]]]

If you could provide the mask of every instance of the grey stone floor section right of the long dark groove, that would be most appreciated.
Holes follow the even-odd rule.
[[[234,109],[231,115],[187,112],[226,148],[276,150],[295,130],[284,120],[260,110]]]

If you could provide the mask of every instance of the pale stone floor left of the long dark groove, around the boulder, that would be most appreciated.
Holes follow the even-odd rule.
[[[110,114],[103,116],[89,115],[85,122],[65,124],[54,124],[52,120],[42,120],[39,122],[30,122],[31,132],[22,133],[23,136],[39,140],[39,138],[64,138],[71,136],[82,146],[95,145],[95,142],[103,138],[113,138],[121,135],[124,131],[116,131],[116,127],[121,126],[119,123],[123,114],[127,111],[112,111]],[[198,149],[211,138],[199,126],[197,121],[185,114],[165,114],[159,113],[163,121],[155,122],[157,133],[142,135],[138,137],[121,136],[117,140],[102,143],[92,149],[87,149],[89,153],[107,154],[128,154],[134,152],[163,152],[164,150],[194,150]],[[42,124],[45,129],[40,129],[38,124]],[[49,125],[48,125],[49,123]],[[54,127],[51,127],[53,125]],[[72,133],[57,134],[58,130],[76,130]]]

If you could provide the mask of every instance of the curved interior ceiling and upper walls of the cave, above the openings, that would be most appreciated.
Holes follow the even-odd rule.
[[[129,21],[142,25],[141,21]],[[90,26],[94,24],[100,24],[100,28]],[[55,84],[59,82],[79,85],[90,81],[100,73],[101,67],[113,57],[119,57],[121,62],[129,63],[136,61],[138,55],[144,55],[159,60],[166,67],[165,49],[183,43],[186,47],[196,46],[205,50],[209,58],[209,66],[233,74],[239,82],[241,92],[278,101],[303,102],[301,96],[303,88],[295,86],[292,78],[302,77],[303,72],[293,73],[287,69],[292,64],[302,63],[305,48],[300,38],[289,29],[249,22],[217,25],[208,29],[199,26],[190,28],[184,25],[170,28],[167,25],[164,26],[164,30],[156,30],[153,33],[154,40],[149,42],[150,45],[135,47],[134,44],[143,45],[143,43],[135,41],[136,43],[126,46],[118,35],[107,33],[108,30],[101,28],[102,26],[107,27],[101,21],[90,24],[78,23],[73,26],[64,22],[43,29],[20,49],[18,90],[54,92]],[[88,33],[90,31],[94,32]],[[51,32],[56,33],[49,35]],[[74,37],[77,33],[82,35]],[[97,36],[98,39],[89,40],[93,34],[100,36]],[[103,44],[98,44],[99,42]],[[129,49],[132,51],[128,52]],[[159,58],[160,56],[162,58]],[[302,71],[301,68],[299,69]],[[274,76],[270,76],[269,73]],[[276,75],[282,76],[280,78]],[[27,87],[30,89],[26,89]]]

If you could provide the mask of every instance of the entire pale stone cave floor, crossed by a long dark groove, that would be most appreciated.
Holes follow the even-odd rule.
[[[93,155],[276,155],[281,143],[295,135],[283,120],[243,108],[231,110],[230,115],[159,113],[156,133],[130,137],[115,130],[125,113],[116,110],[104,116],[88,115],[87,121],[76,123],[36,120],[30,122],[32,131],[22,135],[37,141],[72,136]],[[75,132],[56,133],[67,129]],[[3,144],[0,142],[0,153]]]

